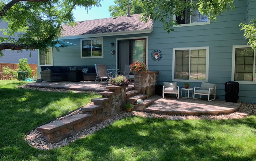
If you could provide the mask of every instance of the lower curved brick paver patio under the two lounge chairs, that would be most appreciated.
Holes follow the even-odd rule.
[[[160,112],[160,113],[177,113],[177,114],[227,114],[237,111],[241,101],[238,103],[226,102],[225,100],[216,99],[209,102],[207,99],[177,99],[173,96],[153,96],[150,99],[155,99],[155,103],[144,111]]]

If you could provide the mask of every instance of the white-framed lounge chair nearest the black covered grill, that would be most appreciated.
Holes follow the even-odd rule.
[[[202,83],[201,87],[195,87],[194,88],[194,100],[196,99],[200,99],[202,97],[202,95],[208,96],[208,101],[213,101],[216,98],[216,84],[213,83]],[[197,89],[196,88],[200,88]],[[200,97],[195,98],[195,95],[200,95]],[[214,95],[214,99],[210,100],[210,96]]]

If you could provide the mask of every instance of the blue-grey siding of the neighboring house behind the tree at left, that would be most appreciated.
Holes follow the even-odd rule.
[[[4,21],[0,22],[0,28],[6,28],[8,24]],[[16,34],[18,35],[18,34]],[[4,37],[0,33],[0,37]],[[15,36],[14,38],[17,38]],[[31,51],[31,57],[29,57],[30,51],[23,50],[23,52],[17,53],[17,51],[5,50],[4,56],[0,58],[0,63],[18,63],[20,58],[27,58],[29,64],[37,64],[37,51]]]

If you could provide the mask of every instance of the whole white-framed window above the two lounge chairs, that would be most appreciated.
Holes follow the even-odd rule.
[[[173,48],[172,81],[208,82],[209,47]]]

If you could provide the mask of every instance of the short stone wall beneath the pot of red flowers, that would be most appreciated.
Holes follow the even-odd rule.
[[[155,95],[155,85],[157,84],[159,71],[133,72],[134,73],[134,89],[140,91],[140,94],[145,94],[148,86],[149,96]]]

